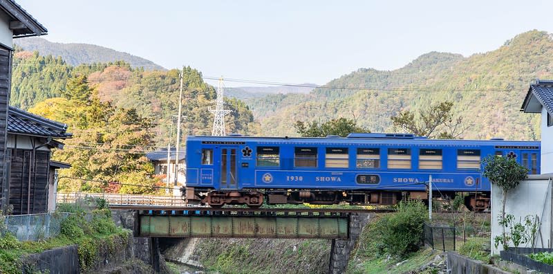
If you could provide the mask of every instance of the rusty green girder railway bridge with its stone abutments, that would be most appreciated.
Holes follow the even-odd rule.
[[[111,205],[115,221],[159,253],[159,239],[189,237],[331,239],[330,273],[343,273],[371,212],[328,208],[205,208]],[[178,241],[175,239],[174,241]],[[153,262],[156,266],[156,262]]]

